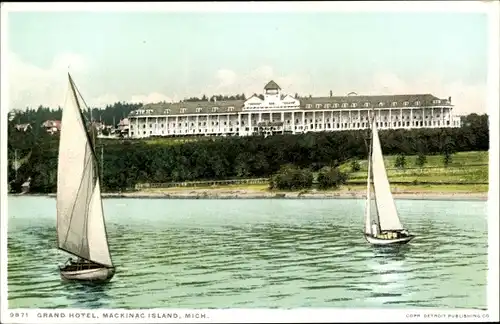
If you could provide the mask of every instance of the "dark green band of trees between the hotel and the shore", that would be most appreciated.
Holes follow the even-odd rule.
[[[489,148],[487,115],[469,115],[461,128],[381,130],[379,134],[384,155],[451,154]],[[272,177],[286,165],[311,172],[323,170],[327,176],[340,177],[337,180],[341,183],[342,175],[334,176],[335,166],[350,159],[366,159],[367,135],[366,130],[351,130],[269,137],[203,137],[185,143],[98,140],[96,151],[103,166],[105,191],[127,190],[137,183]],[[13,168],[16,150],[18,157],[24,159],[17,178]],[[9,181],[15,190],[31,179],[32,192],[55,192],[57,156],[58,135],[50,136],[35,128],[24,133],[9,123]],[[307,183],[306,178],[301,181]]]

